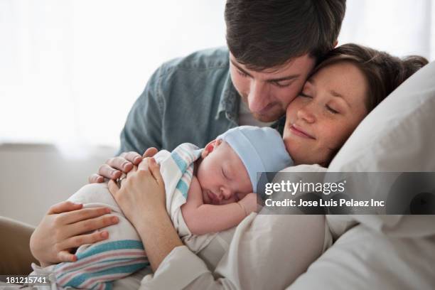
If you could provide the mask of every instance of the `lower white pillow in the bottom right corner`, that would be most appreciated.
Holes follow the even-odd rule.
[[[402,239],[353,227],[287,290],[435,289],[435,237]]]

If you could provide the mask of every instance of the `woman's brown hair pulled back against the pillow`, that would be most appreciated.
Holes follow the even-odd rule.
[[[426,58],[419,55],[410,55],[400,59],[383,51],[347,43],[326,54],[311,74],[313,75],[328,65],[341,62],[353,63],[365,76],[367,112],[374,109],[404,80],[428,63]]]

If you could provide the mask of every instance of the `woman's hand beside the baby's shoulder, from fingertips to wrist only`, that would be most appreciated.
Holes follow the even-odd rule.
[[[135,227],[139,226],[138,222],[144,222],[144,215],[152,215],[154,210],[166,212],[165,185],[154,158],[145,158],[137,170],[130,171],[121,188],[114,181],[109,181],[108,186],[119,208]]]

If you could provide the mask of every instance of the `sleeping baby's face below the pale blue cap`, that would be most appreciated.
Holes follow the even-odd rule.
[[[204,203],[235,203],[252,193],[242,160],[225,141],[216,141],[213,151],[200,162],[196,177],[203,190]]]

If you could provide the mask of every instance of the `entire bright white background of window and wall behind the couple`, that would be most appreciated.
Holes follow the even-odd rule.
[[[36,225],[114,154],[163,61],[225,45],[225,0],[0,0],[0,215]],[[435,59],[431,0],[348,0],[339,43]]]

